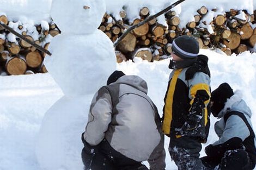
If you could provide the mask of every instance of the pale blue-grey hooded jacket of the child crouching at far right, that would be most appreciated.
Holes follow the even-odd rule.
[[[250,135],[250,131],[241,117],[231,115],[227,119],[227,122],[224,122],[224,115],[231,111],[238,111],[244,114],[248,123],[252,127],[252,112],[246,105],[245,101],[242,100],[242,93],[240,91],[236,91],[235,94],[227,100],[223,110],[218,114],[218,118],[221,119],[215,123],[215,131],[218,137],[220,137],[220,140],[216,141],[212,145],[216,146],[218,144],[222,144],[233,137],[239,137],[242,141],[244,141]]]

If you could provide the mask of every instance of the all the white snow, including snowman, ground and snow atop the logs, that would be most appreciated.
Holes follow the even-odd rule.
[[[46,22],[50,22],[50,16],[62,30],[62,34],[53,39],[51,36],[46,37],[46,41],[51,42],[49,50],[52,56],[46,56],[45,65],[51,74],[0,77],[1,170],[82,170],[80,138],[87,122],[89,104],[94,92],[106,84],[108,75],[115,68],[112,42],[100,30],[96,30],[105,9],[117,19],[120,19],[119,11],[125,10],[132,22],[142,7],[147,6],[153,15],[175,1],[106,0],[105,7],[103,0],[53,0],[52,10],[51,2],[0,2],[1,15],[6,14],[13,21],[11,26],[15,30],[22,23],[22,30],[36,37],[38,34],[34,24],[42,23],[47,28]],[[70,2],[72,5],[67,5]],[[84,9],[84,5],[90,8]],[[197,3],[187,0],[174,9],[182,21],[181,26],[192,21],[196,10],[203,5],[209,9],[217,8],[216,12],[210,11],[205,17],[205,21],[210,24],[212,18],[229,9],[246,9],[252,14],[256,2],[216,0],[205,4],[203,0]],[[165,24],[163,16],[159,17],[159,22]],[[15,39],[11,34],[7,38]],[[254,48],[256,51],[256,46]],[[254,113],[252,123],[255,130],[256,54],[247,51],[238,56],[227,56],[220,51],[216,53],[204,49],[200,53],[209,56],[211,89],[225,81],[234,90],[242,90]],[[118,70],[129,75],[139,75],[147,81],[148,94],[160,115],[170,72],[168,64],[168,59],[148,62],[135,58],[134,62],[129,60],[117,65]],[[205,155],[204,147],[217,140],[213,126],[215,122],[216,118],[211,117],[208,143],[203,145],[201,156]],[[170,159],[168,143],[169,138],[166,137],[166,169],[174,170],[176,166]]]

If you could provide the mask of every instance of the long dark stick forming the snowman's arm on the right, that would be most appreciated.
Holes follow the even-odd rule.
[[[148,21],[151,21],[151,20],[153,20],[154,18],[159,17],[159,16],[162,15],[162,14],[165,14],[165,13],[168,12],[170,9],[174,8],[176,5],[180,4],[180,3],[183,2],[183,1],[186,1],[186,0],[179,0],[179,1],[176,1],[176,2],[173,3],[172,5],[170,5],[169,7],[167,7],[167,8],[165,8],[165,9],[161,10],[160,12],[156,13],[155,15],[150,15],[150,16],[148,16],[147,18],[145,18],[144,21],[139,22],[138,24],[136,24],[136,25],[130,27],[129,29],[126,30],[126,32],[124,32],[124,34],[122,34],[122,35],[119,37],[119,39],[117,39],[117,41],[114,42],[114,47],[116,47],[116,46],[121,42],[121,40],[123,40],[124,37],[125,37],[127,34],[129,34],[133,29],[135,29],[135,28],[137,28],[137,27],[139,27],[139,26],[142,26],[144,23],[146,23],[146,22],[148,22]]]

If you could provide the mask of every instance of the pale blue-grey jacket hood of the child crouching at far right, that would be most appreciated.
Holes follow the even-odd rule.
[[[227,112],[230,111],[242,112],[250,118],[252,116],[252,111],[242,99],[242,92],[240,90],[235,91],[234,95],[227,100],[224,108],[218,114],[218,118],[223,117]]]

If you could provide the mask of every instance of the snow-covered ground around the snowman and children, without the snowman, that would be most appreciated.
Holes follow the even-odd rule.
[[[212,89],[227,81],[234,90],[241,89],[244,92],[245,100],[253,111],[252,122],[256,130],[256,54],[245,52],[238,56],[226,56],[209,50],[202,50],[201,53],[210,58]],[[149,96],[161,114],[170,72],[167,66],[168,60],[149,63],[136,59],[136,62],[119,64],[118,69],[126,74],[139,75],[148,82]],[[45,112],[62,96],[62,91],[50,74],[0,77],[1,170],[40,170],[35,158],[36,135]],[[217,140],[212,127],[215,121],[212,117],[208,143]],[[176,169],[168,152],[166,161],[167,170]]]

